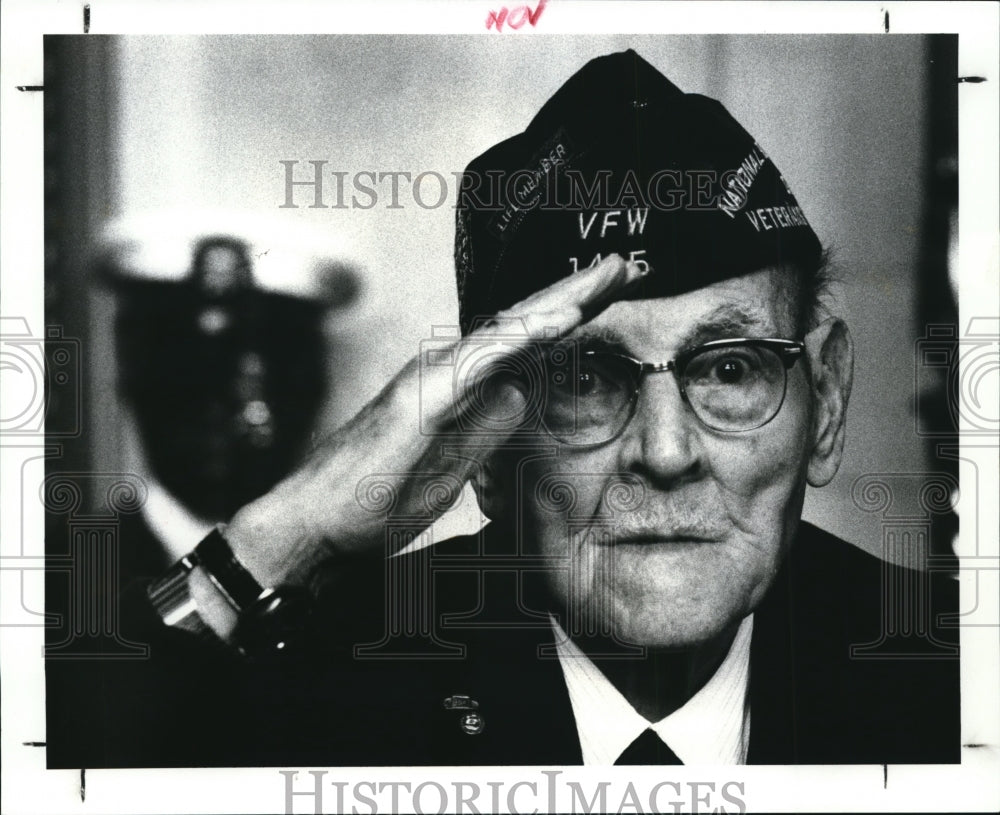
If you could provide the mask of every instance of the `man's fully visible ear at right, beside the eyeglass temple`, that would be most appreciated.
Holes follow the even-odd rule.
[[[805,343],[816,400],[807,478],[812,486],[823,487],[833,480],[843,458],[854,342],[844,322],[831,317],[810,331]]]

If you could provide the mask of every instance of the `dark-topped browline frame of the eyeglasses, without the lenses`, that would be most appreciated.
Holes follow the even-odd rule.
[[[687,391],[685,390],[684,383],[682,381],[684,371],[692,359],[694,359],[699,354],[705,352],[706,350],[712,350],[713,348],[728,348],[728,347],[736,348],[747,345],[763,346],[764,348],[767,348],[768,350],[771,351],[775,351],[777,353],[778,358],[781,360],[785,373],[784,384],[781,390],[781,401],[778,403],[778,407],[775,409],[774,413],[770,416],[770,418],[768,418],[766,421],[763,421],[759,425],[756,425],[754,427],[747,427],[741,430],[724,430],[717,427],[712,427],[711,425],[707,424],[705,420],[701,418],[701,416],[698,415],[698,411],[696,411],[694,407],[691,405],[691,401],[688,398]],[[648,376],[649,374],[659,374],[667,372],[672,373],[674,375],[674,382],[677,383],[677,390],[680,392],[681,400],[684,402],[685,405],[687,405],[691,413],[694,414],[694,417],[698,420],[698,423],[701,424],[703,427],[707,428],[708,430],[711,430],[713,433],[749,433],[753,430],[760,430],[760,428],[765,427],[771,422],[773,422],[775,417],[779,413],[781,413],[781,408],[784,407],[785,404],[785,397],[788,395],[788,371],[790,371],[792,366],[796,363],[796,361],[800,357],[802,357],[802,355],[805,353],[805,349],[806,345],[801,340],[789,340],[783,337],[733,337],[721,340],[710,340],[709,342],[702,343],[701,345],[697,345],[693,348],[688,348],[684,351],[681,351],[681,353],[679,353],[676,357],[674,357],[671,360],[668,360],[667,362],[644,362],[642,360],[636,359],[635,357],[631,357],[628,354],[622,354],[618,351],[610,351],[610,350],[584,351],[582,353],[583,357],[598,356],[598,355],[612,356],[612,357],[617,357],[618,359],[621,360],[625,360],[635,366],[633,368],[633,370],[636,371],[635,387],[632,389],[632,393],[629,396],[628,418],[625,419],[625,421],[622,423],[622,426],[618,429],[618,431],[614,435],[610,436],[609,438],[603,441],[574,444],[572,441],[566,441],[565,439],[559,438],[558,436],[553,434],[548,429],[547,426],[546,426],[546,433],[548,433],[550,436],[552,436],[552,438],[556,439],[560,443],[569,445],[575,450],[587,450],[587,449],[592,449],[594,447],[600,447],[605,444],[610,444],[619,436],[621,436],[622,433],[625,432],[625,429],[632,422],[632,419],[635,418],[636,409],[639,405],[639,390],[642,388],[642,383],[643,380],[646,378],[646,376]]]

